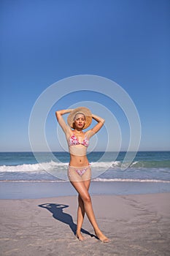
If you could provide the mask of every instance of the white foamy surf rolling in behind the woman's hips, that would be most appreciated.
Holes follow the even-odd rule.
[[[67,178],[69,162],[42,162],[23,165],[1,165],[0,179],[3,181],[20,180],[20,182],[56,182],[54,177],[64,181]],[[132,167],[121,170],[121,162],[91,162],[93,181],[113,182],[154,182],[170,183],[170,168],[142,167],[143,162],[134,162]],[[137,165],[137,167],[136,167]],[[49,176],[52,175],[52,176]],[[58,182],[58,181],[57,181]]]

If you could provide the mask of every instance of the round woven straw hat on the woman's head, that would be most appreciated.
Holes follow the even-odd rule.
[[[85,126],[82,129],[88,128],[92,122],[92,115],[91,115],[91,111],[85,107],[79,107],[72,110],[72,112],[69,114],[67,118],[67,123],[69,124],[69,127],[74,128],[74,117],[78,113],[82,113],[85,115]]]

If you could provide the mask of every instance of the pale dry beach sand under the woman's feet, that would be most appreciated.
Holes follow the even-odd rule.
[[[85,217],[85,241],[74,236],[77,197],[0,200],[0,255],[170,255],[170,193],[93,195],[99,227]]]

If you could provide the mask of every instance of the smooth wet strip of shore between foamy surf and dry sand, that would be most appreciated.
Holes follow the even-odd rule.
[[[91,181],[90,195],[144,195],[169,193],[170,184],[137,181]],[[0,182],[0,199],[36,199],[77,195],[66,182]]]

